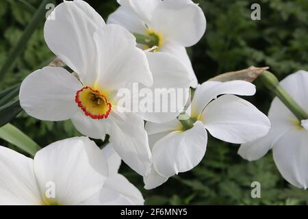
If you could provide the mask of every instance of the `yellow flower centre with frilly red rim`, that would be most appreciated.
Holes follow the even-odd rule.
[[[94,90],[90,87],[78,90],[75,102],[86,116],[94,119],[107,118],[112,109],[112,105],[107,101],[106,97],[99,90]]]

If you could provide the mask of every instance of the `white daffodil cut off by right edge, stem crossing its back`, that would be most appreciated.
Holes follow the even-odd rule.
[[[292,98],[308,112],[308,72],[299,70],[280,82]],[[264,138],[242,144],[238,153],[253,161],[272,149],[274,162],[281,175],[298,188],[308,188],[308,120],[298,120],[275,97],[268,118],[272,127]]]

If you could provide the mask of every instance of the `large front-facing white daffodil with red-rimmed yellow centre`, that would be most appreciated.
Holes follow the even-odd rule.
[[[103,139],[109,134],[123,161],[146,175],[151,151],[143,119],[170,120],[181,110],[140,115],[123,112],[116,94],[130,89],[133,83],[167,90],[188,88],[185,66],[168,54],[144,53],[129,31],[119,25],[105,25],[103,18],[81,0],[57,5],[44,25],[44,39],[78,78],[64,68],[36,70],[21,84],[21,107],[40,120],[71,119],[91,138]]]

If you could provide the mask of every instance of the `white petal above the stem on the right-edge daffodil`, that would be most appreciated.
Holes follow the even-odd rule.
[[[308,72],[306,70],[298,70],[285,77],[280,81],[280,84],[304,110],[308,110]],[[295,84],[296,86],[294,86]]]

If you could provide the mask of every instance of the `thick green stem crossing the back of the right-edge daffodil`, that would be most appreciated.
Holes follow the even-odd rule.
[[[294,101],[292,96],[290,96],[285,88],[280,85],[277,77],[275,77],[269,71],[265,70],[264,73],[261,74],[260,78],[266,87],[277,95],[277,97],[294,114],[294,116],[296,116],[299,121],[308,119],[307,112],[305,112],[305,110],[303,110],[303,108],[300,107],[296,101]]]

